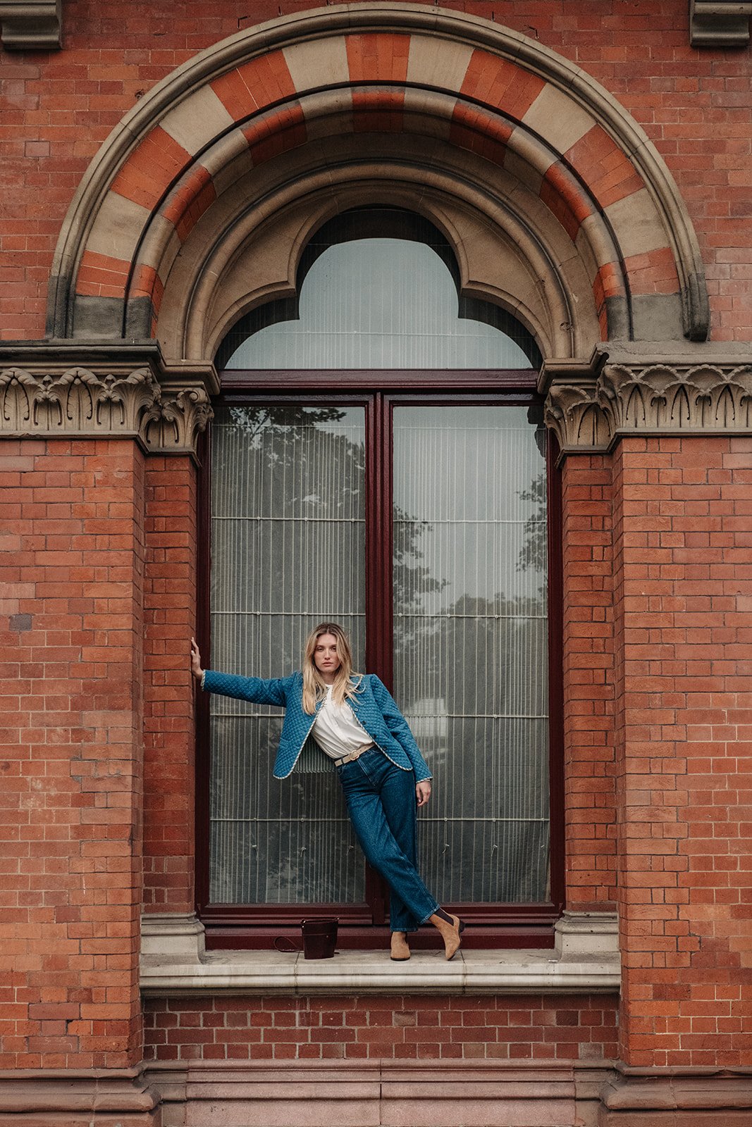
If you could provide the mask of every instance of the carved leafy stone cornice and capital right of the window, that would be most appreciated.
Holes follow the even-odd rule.
[[[578,369],[543,365],[546,423],[563,454],[608,451],[630,434],[752,433],[752,357],[609,352]]]

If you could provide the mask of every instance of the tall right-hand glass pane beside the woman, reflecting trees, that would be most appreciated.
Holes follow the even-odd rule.
[[[395,694],[442,903],[548,898],[546,471],[524,407],[395,410]]]

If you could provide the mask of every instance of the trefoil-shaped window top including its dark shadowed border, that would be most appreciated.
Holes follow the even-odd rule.
[[[244,317],[218,369],[539,367],[532,336],[499,305],[459,295],[446,239],[397,208],[359,208],[307,245],[294,298]]]

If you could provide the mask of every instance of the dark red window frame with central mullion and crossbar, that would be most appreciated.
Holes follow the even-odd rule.
[[[392,542],[391,424],[393,407],[540,405],[537,372],[528,371],[227,371],[222,373],[224,403],[321,406],[333,402],[365,408],[366,529],[380,535],[366,539],[366,666],[392,686]],[[547,948],[554,946],[554,924],[564,908],[564,779],[561,690],[561,553],[560,476],[556,440],[547,433],[548,566],[549,566],[549,779],[551,899],[534,904],[453,904],[468,924],[469,948]],[[211,427],[201,449],[198,488],[197,629],[204,664],[211,667],[209,598]],[[366,871],[368,903],[242,905],[209,900],[209,695],[196,695],[196,912],[206,929],[209,949],[269,949],[278,937],[299,939],[301,915],[339,917],[339,943],[348,948],[387,947],[387,904],[380,878]],[[433,947],[427,931],[412,940],[414,948]]]

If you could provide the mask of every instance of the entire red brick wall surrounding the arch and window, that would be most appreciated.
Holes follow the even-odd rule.
[[[691,50],[685,0],[446,6],[538,38],[635,115],[698,232],[715,339],[750,339],[750,52]],[[2,54],[0,337],[43,336],[64,214],[140,94],[304,7],[67,0],[63,51]],[[131,442],[6,441],[0,456],[0,835],[12,843],[0,858],[0,1065],[122,1065],[140,1057],[144,734],[147,906],[192,905],[193,469],[153,459],[144,486]],[[734,1064],[750,1049],[751,460],[743,440],[617,449],[613,674],[609,460],[564,470],[569,902],[618,897],[631,1064]],[[150,1004],[150,1038],[168,1059],[616,1051],[611,1019],[587,1017],[605,1003],[548,1001],[170,1002]],[[340,1036],[327,1040],[329,1013]]]

